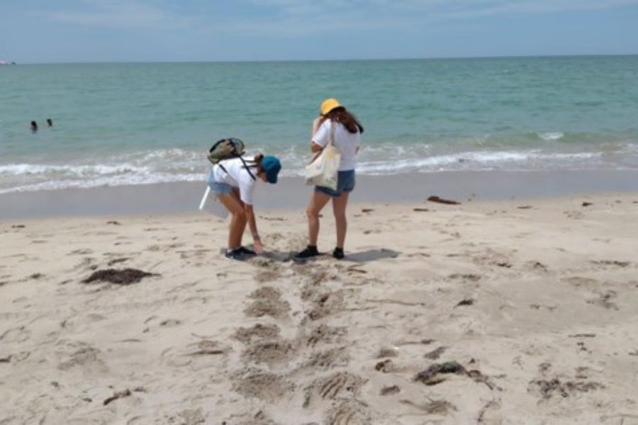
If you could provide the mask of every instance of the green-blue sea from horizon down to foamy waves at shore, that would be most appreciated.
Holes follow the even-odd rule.
[[[362,174],[638,169],[638,56],[18,64],[0,193],[203,181],[229,136],[301,176],[325,97],[364,125]]]

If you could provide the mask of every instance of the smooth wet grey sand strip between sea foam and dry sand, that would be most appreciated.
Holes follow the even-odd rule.
[[[259,183],[258,183],[259,184]],[[301,178],[282,178],[255,191],[257,210],[306,207],[310,188]],[[0,221],[100,215],[165,215],[198,212],[206,183],[177,182],[4,193]],[[638,171],[440,171],[357,176],[352,203],[417,203],[428,196],[506,200],[638,192]]]

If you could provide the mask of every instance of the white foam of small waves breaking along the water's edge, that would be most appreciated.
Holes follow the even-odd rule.
[[[636,149],[637,145],[629,144],[615,155],[625,158],[631,153],[629,157],[633,158],[636,157]],[[281,176],[303,176],[308,159],[306,149],[290,148],[277,154],[284,166]],[[174,181],[203,182],[210,166],[203,158],[203,152],[164,149],[101,158],[104,163],[4,164],[0,165],[0,193]],[[362,149],[357,172],[385,175],[432,171],[603,169],[608,168],[608,161],[609,155],[602,152],[542,152],[530,149],[435,154],[427,145],[377,146]],[[624,159],[617,164],[623,168],[638,169],[638,159],[632,161]]]

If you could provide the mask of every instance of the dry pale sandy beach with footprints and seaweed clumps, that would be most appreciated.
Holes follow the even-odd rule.
[[[457,200],[4,220],[0,424],[638,424],[638,195]]]

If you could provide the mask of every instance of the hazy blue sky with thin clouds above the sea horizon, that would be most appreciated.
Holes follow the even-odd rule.
[[[0,60],[638,54],[638,0],[0,0]]]

